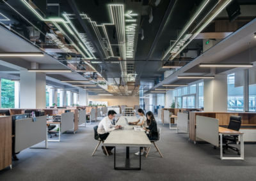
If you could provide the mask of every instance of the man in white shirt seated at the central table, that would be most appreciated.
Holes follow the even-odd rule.
[[[108,116],[104,117],[104,119],[100,120],[100,124],[99,127],[97,129],[97,132],[100,136],[100,140],[106,140],[108,138],[109,132],[115,130],[115,129],[119,129],[119,127],[122,126],[114,126],[111,122],[112,120],[115,118],[116,112],[114,110],[110,110],[108,112]],[[108,154],[111,155],[112,152],[111,150],[114,147],[106,147]],[[104,147],[102,146],[102,150],[104,152],[105,155],[107,155],[106,151],[104,150]]]

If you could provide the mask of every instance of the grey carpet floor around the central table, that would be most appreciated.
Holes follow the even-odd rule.
[[[116,116],[117,117],[117,116]],[[157,120],[157,119],[156,119]],[[93,138],[93,126],[79,128],[76,134],[61,135],[61,142],[49,143],[49,149],[26,149],[13,161],[13,168],[0,171],[0,180],[256,180],[255,143],[244,145],[244,161],[220,159],[208,143],[188,141],[188,134],[177,134],[169,125],[162,125],[161,140],[148,157],[141,156],[140,171],[114,170],[114,157],[105,156],[101,147],[92,157],[98,141]],[[54,138],[52,138],[54,139]],[[36,146],[43,146],[39,143]],[[101,146],[101,145],[100,145]],[[130,148],[131,166],[139,166],[139,157]],[[226,155],[236,156],[227,151]],[[125,148],[116,147],[116,166],[124,166]]]

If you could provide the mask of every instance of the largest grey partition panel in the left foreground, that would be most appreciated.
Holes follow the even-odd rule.
[[[46,138],[46,116],[15,120],[15,152],[20,152]]]

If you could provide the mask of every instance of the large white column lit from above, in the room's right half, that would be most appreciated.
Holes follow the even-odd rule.
[[[227,112],[227,75],[215,75],[204,79],[204,111]]]

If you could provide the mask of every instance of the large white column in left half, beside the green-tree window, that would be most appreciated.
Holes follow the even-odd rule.
[[[45,74],[20,71],[20,108],[45,108]]]

